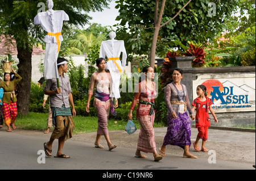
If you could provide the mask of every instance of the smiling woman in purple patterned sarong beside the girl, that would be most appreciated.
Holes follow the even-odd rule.
[[[191,145],[191,124],[189,114],[192,116],[192,108],[189,102],[187,88],[181,84],[183,71],[175,69],[172,74],[173,82],[164,90],[167,111],[168,128],[160,148],[160,155],[165,156],[166,145],[177,145],[184,149],[184,158],[197,158],[189,153]],[[193,116],[192,116],[193,117]]]

